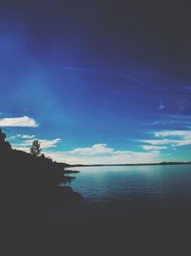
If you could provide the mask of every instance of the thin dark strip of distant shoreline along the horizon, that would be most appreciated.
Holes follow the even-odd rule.
[[[68,167],[107,167],[107,166],[156,166],[156,165],[191,165],[191,162],[161,162],[161,163],[140,163],[140,164],[93,164],[93,165],[70,165]]]

